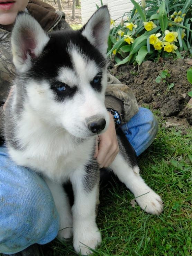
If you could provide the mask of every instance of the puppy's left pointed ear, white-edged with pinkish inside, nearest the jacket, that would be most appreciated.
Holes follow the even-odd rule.
[[[42,53],[48,41],[49,37],[39,23],[29,14],[20,12],[11,34],[13,63],[17,71],[28,71],[31,60]]]

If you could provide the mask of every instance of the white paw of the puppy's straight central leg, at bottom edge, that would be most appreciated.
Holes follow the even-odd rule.
[[[91,249],[95,249],[99,246],[101,241],[101,234],[96,224],[93,225],[93,227],[88,225],[87,228],[78,227],[74,229],[73,246],[77,253],[90,255],[93,253]]]

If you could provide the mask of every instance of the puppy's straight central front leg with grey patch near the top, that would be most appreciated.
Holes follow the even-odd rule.
[[[99,169],[92,165],[76,171],[71,177],[74,191],[73,246],[77,253],[89,255],[101,242],[101,234],[95,222],[98,199]]]

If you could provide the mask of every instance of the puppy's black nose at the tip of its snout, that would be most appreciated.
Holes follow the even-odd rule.
[[[86,118],[86,123],[87,123],[88,129],[92,133],[99,133],[106,126],[106,120],[98,116],[91,116],[89,118]]]

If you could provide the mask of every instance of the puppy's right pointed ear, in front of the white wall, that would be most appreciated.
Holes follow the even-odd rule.
[[[107,51],[110,29],[110,15],[106,5],[99,8],[82,28],[82,35],[103,55]]]

